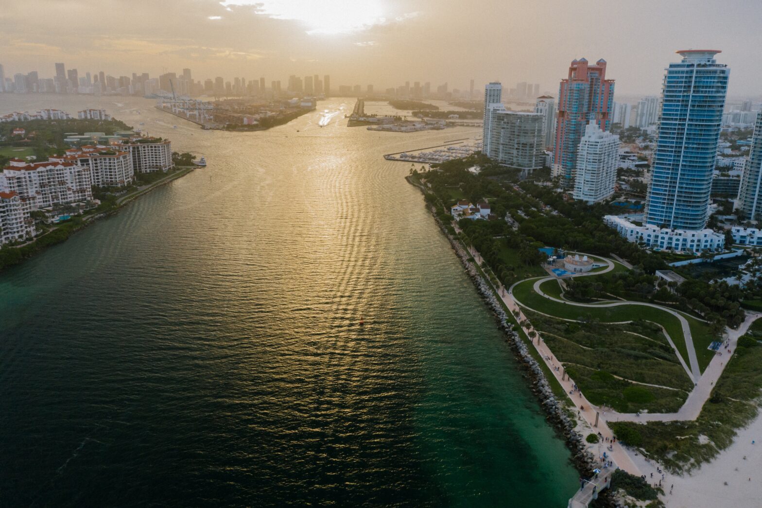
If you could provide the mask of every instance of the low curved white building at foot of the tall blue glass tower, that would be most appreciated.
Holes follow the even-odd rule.
[[[701,252],[721,250],[725,247],[725,235],[714,230],[671,230],[645,224],[637,226],[625,217],[607,215],[604,223],[613,227],[629,242],[642,243],[652,249]]]

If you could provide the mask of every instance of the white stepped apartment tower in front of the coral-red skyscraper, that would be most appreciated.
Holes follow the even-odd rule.
[[[600,130],[594,121],[585,127],[577,152],[573,193],[575,199],[592,204],[613,194],[616,167],[619,166],[619,147],[619,136]]]

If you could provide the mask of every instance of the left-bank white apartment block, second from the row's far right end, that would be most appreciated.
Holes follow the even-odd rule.
[[[74,162],[90,173],[96,187],[126,187],[135,180],[130,152],[112,146],[82,146],[66,150],[66,156],[51,157],[56,162]]]

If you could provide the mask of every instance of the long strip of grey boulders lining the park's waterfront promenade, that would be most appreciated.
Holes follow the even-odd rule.
[[[537,361],[530,354],[526,342],[524,342],[514,330],[514,324],[511,323],[511,317],[508,317],[506,310],[501,305],[500,301],[498,301],[495,291],[492,289],[491,285],[485,281],[479,273],[479,270],[477,270],[471,261],[472,256],[463,248],[463,244],[447,231],[447,227],[445,227],[439,217],[437,217],[434,207],[431,207],[431,211],[440,230],[447,236],[447,240],[450,240],[450,245],[455,250],[460,262],[466,268],[466,272],[474,282],[476,291],[479,291],[482,300],[485,301],[495,314],[495,319],[498,320],[500,329],[504,331],[507,337],[506,340],[511,346],[511,349],[513,349],[514,355],[516,355],[520,365],[526,369],[526,377],[532,384],[532,391],[539,398],[540,404],[542,404],[543,409],[546,411],[548,420],[565,437],[566,444],[572,452],[571,461],[574,463],[575,468],[577,468],[581,474],[591,476],[593,474],[593,469],[597,467],[596,460],[595,456],[591,452],[588,452],[584,442],[584,436],[575,430],[575,423],[568,417],[562,404],[560,404],[559,400],[553,395],[543,369],[540,368]]]

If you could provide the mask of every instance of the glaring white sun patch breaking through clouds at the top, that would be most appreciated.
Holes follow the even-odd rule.
[[[258,14],[299,21],[307,34],[352,34],[386,22],[381,0],[226,0],[222,5],[256,5]]]

